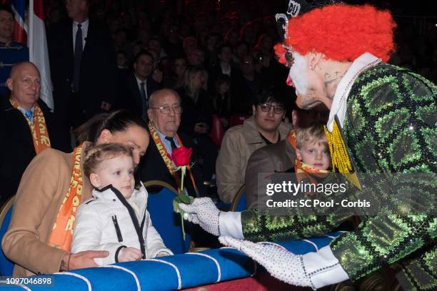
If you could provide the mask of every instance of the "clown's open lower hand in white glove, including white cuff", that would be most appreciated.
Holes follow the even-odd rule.
[[[342,282],[348,275],[333,256],[330,247],[318,252],[295,255],[281,245],[271,242],[249,242],[221,236],[218,240],[234,247],[263,265],[267,272],[278,280],[291,285],[317,288]]]

